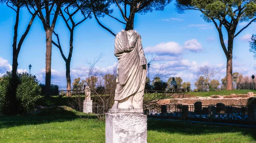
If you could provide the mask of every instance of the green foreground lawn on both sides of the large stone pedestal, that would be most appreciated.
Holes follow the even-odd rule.
[[[105,143],[104,121],[67,109],[0,116],[0,143]],[[256,129],[148,120],[148,143],[256,143]]]

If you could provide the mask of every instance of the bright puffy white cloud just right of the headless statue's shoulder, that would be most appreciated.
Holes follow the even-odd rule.
[[[175,56],[182,54],[182,46],[176,42],[160,43],[154,47],[145,48],[146,53],[155,53],[158,56],[169,55]]]

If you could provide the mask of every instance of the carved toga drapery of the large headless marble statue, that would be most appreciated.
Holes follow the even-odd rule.
[[[114,100],[123,101],[133,96],[134,108],[143,108],[147,62],[140,34],[135,30],[122,30],[116,34],[114,54],[119,62]]]

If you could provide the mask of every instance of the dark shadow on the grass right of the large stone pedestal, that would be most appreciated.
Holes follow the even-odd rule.
[[[148,130],[183,135],[205,135],[211,133],[235,133],[250,135],[256,140],[256,128],[246,128],[227,125],[210,125],[204,123],[189,123],[181,121],[148,120]]]

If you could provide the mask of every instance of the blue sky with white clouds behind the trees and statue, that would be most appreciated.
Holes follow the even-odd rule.
[[[116,17],[120,18],[119,11],[113,7]],[[0,76],[12,65],[12,39],[15,12],[6,5],[0,5]],[[185,14],[178,14],[175,11],[174,3],[166,6],[164,11],[153,11],[145,15],[137,14],[135,17],[134,29],[142,36],[143,48],[146,57],[156,58],[152,73],[157,71],[160,65],[167,67],[173,76],[180,76],[183,81],[190,81],[194,84],[198,67],[210,65],[222,70],[219,80],[226,74],[226,57],[221,48],[218,32],[213,23],[205,22],[198,11],[185,11]],[[20,14],[19,37],[25,31],[31,15],[23,9]],[[77,15],[79,20],[81,15]],[[121,18],[120,18],[121,19]],[[110,17],[99,19],[114,33],[125,28],[121,23]],[[238,30],[247,22],[241,22]],[[237,30],[237,31],[238,31]],[[243,75],[252,75],[255,72],[255,60],[249,52],[250,36],[256,31],[254,22],[235,38],[233,48],[233,72]],[[61,17],[55,27],[61,40],[64,54],[67,56],[69,47],[69,31]],[[54,37],[54,36],[53,36]],[[117,59],[113,54],[114,36],[100,27],[94,18],[84,21],[75,30],[74,50],[71,61],[71,79],[79,77],[77,73],[83,73],[88,65],[86,60],[99,56],[103,53],[100,62],[96,64],[102,71],[113,66]],[[224,33],[224,39],[227,34]],[[45,69],[45,32],[41,21],[36,17],[32,28],[24,41],[18,58],[19,71],[29,71],[29,64],[32,65],[31,73],[38,76],[41,83],[44,83]],[[52,47],[52,84],[65,85],[65,62],[54,45]],[[167,80],[167,79],[166,79]]]

